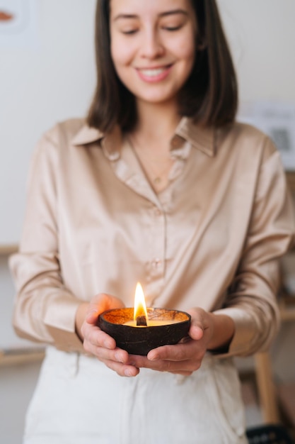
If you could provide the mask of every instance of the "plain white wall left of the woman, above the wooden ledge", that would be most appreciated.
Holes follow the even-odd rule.
[[[21,1],[35,11],[28,25],[33,36],[20,33],[9,45],[0,27],[2,245],[20,239],[28,164],[38,138],[57,121],[83,116],[95,84],[95,0]]]

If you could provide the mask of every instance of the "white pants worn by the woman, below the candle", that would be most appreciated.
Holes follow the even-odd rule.
[[[190,377],[141,369],[127,378],[48,348],[23,444],[246,444],[244,429],[229,359],[208,355]]]

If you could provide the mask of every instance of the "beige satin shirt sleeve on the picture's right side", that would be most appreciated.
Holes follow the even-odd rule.
[[[294,244],[295,216],[279,152],[266,138],[248,235],[223,313],[236,329],[226,355],[269,348],[279,329],[279,257]]]

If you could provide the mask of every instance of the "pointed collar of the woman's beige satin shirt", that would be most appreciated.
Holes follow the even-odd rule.
[[[172,148],[178,150],[181,139],[187,141],[193,148],[213,157],[216,152],[214,128],[198,126],[192,118],[183,117],[176,128],[172,140]],[[96,128],[89,127],[86,123],[82,126],[74,138],[73,145],[87,145],[101,140],[101,146],[110,160],[120,157],[119,147],[122,145],[122,133],[119,126],[115,126],[111,133],[104,134]]]

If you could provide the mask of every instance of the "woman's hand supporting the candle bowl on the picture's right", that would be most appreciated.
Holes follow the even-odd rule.
[[[129,365],[189,376],[199,369],[207,350],[226,345],[233,337],[234,323],[229,316],[200,308],[187,313],[192,316],[189,337],[175,345],[155,348],[147,356],[129,355]]]

